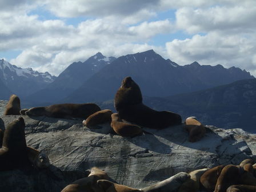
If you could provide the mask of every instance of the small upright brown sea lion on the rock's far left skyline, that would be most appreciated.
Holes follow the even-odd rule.
[[[17,95],[11,95],[3,115],[20,115],[21,101]]]

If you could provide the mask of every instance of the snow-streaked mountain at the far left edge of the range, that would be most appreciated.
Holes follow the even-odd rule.
[[[4,59],[0,60],[0,80],[11,92],[19,97],[26,97],[42,89],[53,82],[54,79],[55,76],[50,75],[48,72],[39,73],[31,68],[23,69],[11,65]]]

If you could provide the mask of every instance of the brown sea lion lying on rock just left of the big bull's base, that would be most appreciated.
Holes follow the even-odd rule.
[[[86,127],[91,127],[98,124],[111,122],[111,114],[113,114],[113,112],[109,109],[97,111],[96,113],[90,115],[86,120],[83,120],[83,125]]]

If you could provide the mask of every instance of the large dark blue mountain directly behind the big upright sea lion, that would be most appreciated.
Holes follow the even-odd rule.
[[[201,66],[198,63],[179,66],[149,50],[115,59],[62,102],[99,102],[113,99],[122,79],[127,76],[131,76],[138,83],[143,95],[150,97],[167,97],[239,79],[254,78],[250,73],[235,67],[225,69],[219,65]]]

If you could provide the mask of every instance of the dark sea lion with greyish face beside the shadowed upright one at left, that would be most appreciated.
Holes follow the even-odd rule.
[[[49,167],[50,160],[45,153],[41,153],[33,147],[27,146],[27,156],[34,167],[45,169]]]

